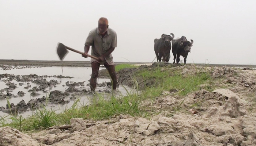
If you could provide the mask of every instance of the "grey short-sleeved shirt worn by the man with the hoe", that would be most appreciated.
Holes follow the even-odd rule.
[[[98,32],[98,27],[90,31],[85,44],[91,46],[91,55],[95,57],[100,57],[105,54],[110,47],[117,47],[117,35],[114,30],[108,28],[107,34],[102,38],[101,34]],[[106,56],[106,62],[109,65],[114,65],[113,56],[109,54]],[[98,62],[96,59],[91,58],[92,62]]]

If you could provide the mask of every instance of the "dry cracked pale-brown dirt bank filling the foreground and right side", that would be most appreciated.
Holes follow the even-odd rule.
[[[191,65],[175,68],[182,76],[200,72]],[[0,142],[5,146],[256,146],[255,74],[227,66],[206,71],[219,89],[209,92],[202,85],[185,97],[163,91],[153,102],[140,105],[160,113],[150,119],[129,115],[103,121],[71,119],[70,125],[30,134],[1,127]]]

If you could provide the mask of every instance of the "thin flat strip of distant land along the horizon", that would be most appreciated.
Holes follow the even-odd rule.
[[[120,64],[152,64],[151,62],[115,62]],[[0,59],[0,65],[29,65],[29,66],[73,66],[73,67],[90,67],[89,61],[41,61],[41,60],[14,60]],[[256,68],[256,65],[236,65],[236,64],[195,64],[197,66],[229,66],[229,67],[244,67]]]

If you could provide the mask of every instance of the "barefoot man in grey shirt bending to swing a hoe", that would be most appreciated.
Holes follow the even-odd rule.
[[[114,30],[109,28],[108,19],[99,18],[98,27],[90,31],[86,42],[84,44],[84,53],[88,53],[91,46],[91,55],[98,57],[98,59],[91,58],[91,91],[95,91],[97,77],[99,73],[99,66],[104,65],[109,72],[112,79],[112,89],[116,90],[117,78],[113,62],[112,52],[117,47],[117,35]],[[87,58],[88,56],[82,56]]]

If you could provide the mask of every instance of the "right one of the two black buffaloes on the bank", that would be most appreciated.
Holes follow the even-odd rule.
[[[187,40],[186,37],[182,36],[181,38],[173,39],[172,40],[173,48],[173,64],[178,64],[180,62],[180,55],[184,57],[184,64],[186,64],[188,53],[191,52],[191,47],[193,46],[193,40],[191,39],[191,42]]]

